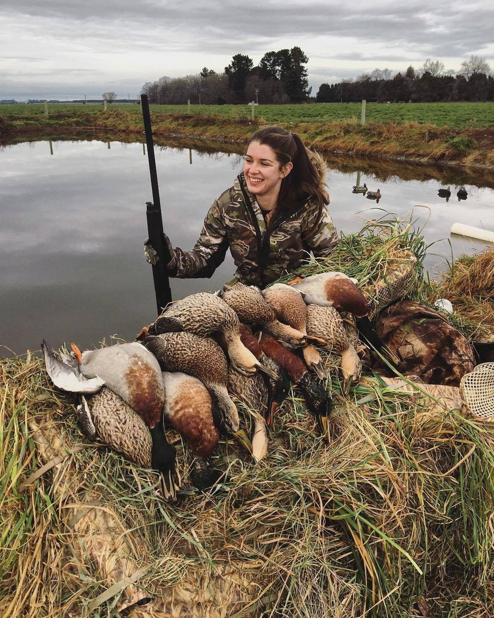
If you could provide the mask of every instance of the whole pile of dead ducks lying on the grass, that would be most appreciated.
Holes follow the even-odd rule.
[[[341,356],[344,394],[361,377],[362,342],[398,362],[368,313],[354,279],[326,272],[262,292],[237,283],[190,295],[165,308],[132,343],[85,352],[72,344],[71,354],[54,353],[46,341],[41,347],[54,385],[77,394],[82,432],[156,470],[162,495],[173,500],[224,476],[212,458],[221,435],[254,462],[264,459],[267,428],[292,385],[327,435],[332,397],[319,349]],[[236,402],[253,411],[251,436],[240,426]],[[193,486],[180,485],[166,425],[195,457]]]

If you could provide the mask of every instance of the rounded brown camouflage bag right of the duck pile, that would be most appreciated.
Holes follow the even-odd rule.
[[[402,360],[404,374],[427,384],[459,386],[475,366],[472,346],[438,311],[411,300],[391,305],[377,318],[376,331]]]

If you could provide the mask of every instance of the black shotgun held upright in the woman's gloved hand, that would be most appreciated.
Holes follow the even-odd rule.
[[[146,201],[146,218],[148,219],[148,243],[157,253],[157,261],[153,264],[154,293],[156,294],[156,308],[158,315],[172,302],[172,290],[166,265],[171,260],[170,252],[164,240],[163,219],[161,216],[161,202],[159,201],[158,177],[156,161],[154,160],[153,133],[151,132],[151,116],[149,116],[148,95],[141,95],[143,108],[144,133],[148,146],[149,175],[151,176],[151,190],[153,201]]]

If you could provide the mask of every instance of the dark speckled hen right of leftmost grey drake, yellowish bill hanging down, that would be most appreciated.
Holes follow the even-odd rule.
[[[232,434],[241,446],[252,452],[245,431],[240,429],[237,407],[228,395],[228,363],[216,341],[183,331],[151,335],[141,343],[153,353],[164,371],[180,371],[198,378],[216,404],[214,410],[219,413],[214,421],[217,428]]]

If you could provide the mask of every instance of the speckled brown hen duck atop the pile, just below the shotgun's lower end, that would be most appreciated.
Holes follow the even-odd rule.
[[[221,298],[209,292],[191,294],[171,305],[148,327],[144,327],[138,339],[162,332],[191,332],[207,337],[220,332],[227,345],[227,354],[238,371],[253,373],[264,367],[246,349],[240,340],[240,322],[237,313]]]

